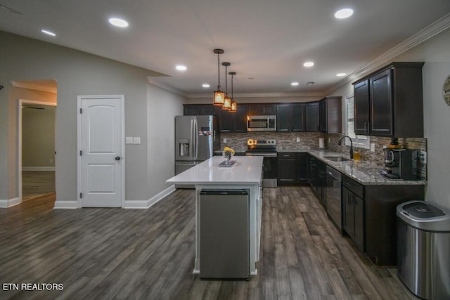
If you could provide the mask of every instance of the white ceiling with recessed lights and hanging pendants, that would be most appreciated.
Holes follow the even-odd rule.
[[[449,0],[0,0],[0,5],[22,13],[0,9],[2,31],[158,72],[151,81],[191,97],[210,95],[217,86],[214,48],[224,49],[221,62],[237,72],[235,96],[325,93],[414,34],[450,27]],[[335,19],[344,7],[354,15]],[[128,20],[129,27],[110,26],[112,16]],[[438,30],[426,29],[433,23]],[[398,51],[407,48],[402,45]],[[307,60],[316,65],[303,67]],[[176,71],[176,64],[188,70]],[[225,68],[220,72],[224,88]],[[338,72],[349,76],[336,77]],[[228,81],[230,91],[231,77]],[[290,86],[292,81],[299,86]]]

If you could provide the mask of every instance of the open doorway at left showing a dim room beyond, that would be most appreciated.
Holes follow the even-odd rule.
[[[42,196],[56,200],[56,81],[53,84],[54,89],[43,91],[39,81],[13,81],[18,96],[36,99],[18,98],[19,203]]]

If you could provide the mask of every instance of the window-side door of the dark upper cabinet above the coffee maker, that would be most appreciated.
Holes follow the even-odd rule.
[[[368,80],[354,85],[354,133],[369,134],[369,97]]]

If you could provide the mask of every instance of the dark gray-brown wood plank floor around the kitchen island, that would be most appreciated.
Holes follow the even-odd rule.
[[[327,219],[309,188],[264,189],[250,281],[200,280],[193,190],[150,209],[53,209],[45,195],[0,209],[0,299],[416,299]],[[60,283],[62,290],[4,290]],[[13,286],[8,285],[8,289]]]

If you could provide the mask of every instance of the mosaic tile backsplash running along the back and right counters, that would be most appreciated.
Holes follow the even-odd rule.
[[[338,145],[338,139],[342,136],[340,133],[300,133],[300,132],[251,132],[251,133],[221,133],[221,149],[225,146],[233,148],[236,152],[245,152],[247,150],[248,138],[271,138],[276,139],[276,150],[278,152],[302,152],[304,150],[319,150],[319,138],[325,139],[326,148],[334,152],[342,152],[345,155],[349,153],[349,146]],[[226,143],[224,143],[226,138]],[[297,143],[297,138],[300,142]],[[389,145],[390,138],[380,138],[371,136],[371,143],[375,144],[375,151],[358,148],[361,160],[377,164],[380,168],[384,167],[383,146]],[[426,138],[399,138],[399,144],[406,149],[427,151]],[[421,178],[427,178],[427,165],[417,162],[418,174]]]

